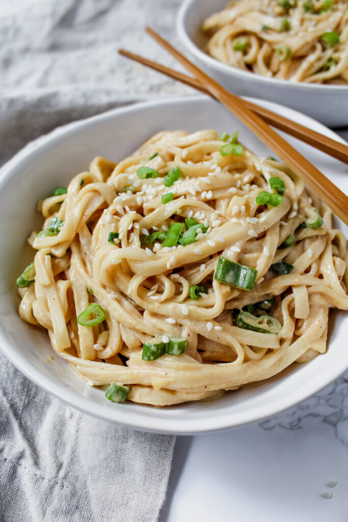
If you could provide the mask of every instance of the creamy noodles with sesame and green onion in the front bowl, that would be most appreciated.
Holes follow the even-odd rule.
[[[330,307],[348,310],[346,240],[289,168],[227,136],[159,133],[118,164],[95,158],[66,193],[57,187],[40,203],[46,220],[29,238],[34,276],[27,269],[17,280],[19,313],[48,330],[86,381],[171,405],[216,397],[326,350]],[[257,203],[265,194],[273,203]],[[175,244],[162,246],[175,227]],[[214,278],[220,257],[256,277],[250,291]],[[90,305],[99,318],[87,317]],[[243,317],[257,327],[239,324]],[[183,339],[185,352],[143,360],[154,337],[158,346]]]

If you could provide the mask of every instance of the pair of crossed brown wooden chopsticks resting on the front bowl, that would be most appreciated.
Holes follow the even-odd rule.
[[[327,138],[326,136],[322,136],[315,131],[311,131],[311,129],[303,125],[299,125],[279,114],[263,109],[254,103],[245,101],[235,94],[231,94],[199,69],[199,67],[190,62],[183,54],[179,53],[158,33],[150,28],[146,28],[146,32],[166,51],[174,56],[179,63],[184,65],[184,67],[194,75],[194,78],[147,60],[147,58],[143,58],[142,56],[129,53],[123,49],[119,50],[119,53],[171,78],[182,81],[220,101],[227,109],[234,113],[239,120],[249,127],[265,145],[275,152],[279,158],[312,188],[331,210],[348,225],[348,197],[268,124],[348,163],[348,147],[346,145]]]

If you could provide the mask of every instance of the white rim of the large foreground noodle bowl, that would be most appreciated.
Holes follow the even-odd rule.
[[[253,101],[254,103],[259,103],[260,105],[266,106],[270,110],[277,106],[278,108],[282,108],[282,105],[267,100],[259,100],[256,98],[247,99]],[[180,105],[182,103],[192,104],[195,102],[201,102],[203,100],[211,101],[210,98],[206,96],[198,95],[139,102],[112,109],[96,116],[88,117],[84,120],[78,120],[61,127],[57,127],[49,134],[43,135],[34,140],[31,144],[17,153],[13,159],[9,160],[4,165],[4,167],[2,167],[2,169],[0,169],[2,171],[0,175],[0,194],[2,193],[2,188],[6,187],[6,185],[10,182],[13,169],[18,169],[21,166],[25,167],[25,164],[28,160],[30,161],[33,158],[40,157],[40,153],[43,152],[46,147],[57,144],[59,141],[66,140],[68,136],[75,134],[83,127],[92,126],[94,123],[107,120],[108,118],[117,118],[118,115],[133,113],[139,109],[153,109],[154,107],[160,108],[163,105],[171,105],[173,108],[175,108],[175,105]],[[305,125],[309,125],[310,122],[313,122],[315,123],[316,128],[319,129],[319,132],[325,132],[326,135],[337,139],[342,143],[345,143],[340,136],[331,131],[331,129],[325,127],[323,124],[314,120],[314,118],[299,113],[294,109],[286,108],[286,110],[290,111],[290,117],[292,117],[293,120],[296,120],[296,117],[298,120],[299,116],[301,115],[301,120]],[[10,340],[6,336],[5,330],[3,330],[1,325],[0,350],[6,355],[10,362],[13,363],[18,368],[18,370],[20,370],[21,373],[28,377],[32,382],[43,388],[46,392],[49,392],[56,398],[65,402],[65,404],[68,406],[76,408],[93,417],[100,418],[106,422],[122,424],[140,431],[176,435],[213,433],[272,418],[280,412],[295,406],[299,402],[302,402],[308,397],[319,392],[322,388],[329,385],[332,381],[334,381],[334,379],[338,378],[346,370],[345,367],[342,369],[342,367],[339,367],[338,365],[328,365],[326,374],[323,375],[320,383],[311,381],[310,386],[307,385],[305,390],[303,388],[294,389],[293,393],[289,395],[289,398],[275,398],[272,400],[271,405],[267,403],[267,408],[265,406],[260,407],[255,405],[253,408],[240,411],[237,414],[233,413],[232,419],[231,412],[223,412],[216,417],[187,417],[186,419],[177,419],[173,417],[171,419],[163,419],[160,417],[155,418],[146,416],[142,411],[134,411],[130,413],[128,409],[124,409],[123,405],[116,404],[112,405],[113,408],[108,410],[110,411],[110,414],[106,415],[106,410],[101,410],[97,402],[93,402],[89,398],[79,395],[76,392],[71,392],[69,388],[64,387],[61,383],[56,383],[50,378],[50,376],[42,373],[41,370],[38,369],[32,362],[28,362],[28,359],[13,349]]]

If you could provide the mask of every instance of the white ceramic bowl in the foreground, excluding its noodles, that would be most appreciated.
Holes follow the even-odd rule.
[[[255,100],[254,100],[255,101]],[[256,100],[257,101],[257,100]],[[260,102],[304,125],[333,138],[332,131],[291,109]],[[32,381],[50,393],[94,416],[148,431],[200,433],[231,428],[272,416],[330,383],[348,368],[346,331],[348,316],[335,314],[335,328],[328,353],[306,365],[294,365],[267,382],[227,393],[214,402],[152,408],[138,404],[114,404],[100,389],[85,386],[57,357],[44,331],[28,326],[18,316],[16,277],[33,256],[26,239],[42,219],[35,212],[38,199],[66,185],[76,173],[88,168],[95,155],[119,161],[161,129],[196,131],[215,128],[234,132],[260,156],[270,151],[222,105],[208,97],[189,97],[141,103],[106,112],[59,128],[40,138],[7,164],[0,177],[0,345],[8,359]],[[302,144],[289,141],[330,179],[348,192],[346,167]],[[345,227],[345,233],[347,233]],[[53,355],[54,360],[49,361]],[[47,362],[48,361],[48,362]]]

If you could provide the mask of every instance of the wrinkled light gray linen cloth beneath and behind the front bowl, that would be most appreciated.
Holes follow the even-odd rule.
[[[179,3],[2,0],[0,165],[58,125],[189,92],[116,54],[125,46],[170,64],[142,29],[172,38]],[[0,354],[1,522],[157,520],[175,437],[66,413]]]

